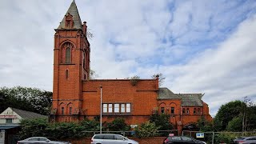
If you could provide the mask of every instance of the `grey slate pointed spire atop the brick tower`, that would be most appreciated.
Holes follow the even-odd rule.
[[[60,22],[60,24],[58,26],[58,29],[68,29],[68,28],[66,28],[66,16],[68,16],[69,14],[73,18],[73,22],[74,22],[73,28],[74,29],[82,29],[82,21],[81,21],[80,15],[78,13],[78,7],[74,0],[70,5],[69,10],[66,11],[64,18],[62,19],[62,22]]]

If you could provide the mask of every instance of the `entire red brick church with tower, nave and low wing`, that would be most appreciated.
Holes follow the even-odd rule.
[[[54,90],[51,119],[77,122],[100,115],[102,122],[126,119],[130,125],[149,120],[150,115],[170,114],[178,130],[195,124],[199,118],[211,121],[203,94],[174,94],[158,86],[156,79],[90,79],[90,43],[73,1],[54,34]]]

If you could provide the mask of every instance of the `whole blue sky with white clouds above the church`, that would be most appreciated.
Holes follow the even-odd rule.
[[[52,91],[54,29],[72,0],[1,0],[0,87]],[[174,93],[256,102],[255,0],[76,0],[98,78],[162,73]]]

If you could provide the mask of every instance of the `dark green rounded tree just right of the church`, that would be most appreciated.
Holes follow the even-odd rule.
[[[232,101],[222,105],[214,118],[215,130],[226,130],[228,122],[241,114],[242,106],[245,105],[246,104],[241,101]]]

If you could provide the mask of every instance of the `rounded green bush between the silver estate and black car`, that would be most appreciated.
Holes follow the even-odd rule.
[[[135,127],[135,134],[138,138],[154,137],[158,135],[158,126],[154,122],[145,122]]]

